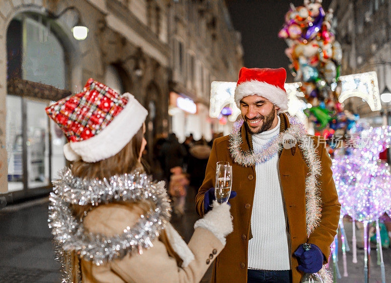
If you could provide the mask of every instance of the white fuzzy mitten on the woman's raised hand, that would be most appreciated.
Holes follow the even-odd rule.
[[[213,209],[195,222],[194,229],[204,228],[211,231],[225,245],[225,237],[234,231],[230,208],[228,203],[219,204],[214,200]]]

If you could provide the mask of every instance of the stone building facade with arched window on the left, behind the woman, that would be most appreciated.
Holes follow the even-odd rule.
[[[193,2],[195,18],[189,12]],[[212,54],[211,34],[198,31],[208,44],[191,36],[197,21],[211,33],[213,17],[206,11],[221,7],[222,1],[0,1],[0,193],[8,192],[12,201],[51,189],[50,180],[66,165],[66,140],[44,108],[81,91],[90,77],[132,93],[148,109],[149,149],[156,136],[174,130],[169,115],[173,92],[194,102],[194,114],[183,103],[179,106],[200,135],[204,122],[211,123],[205,116],[210,81],[234,79],[231,75],[240,67],[240,45],[215,46],[220,53]],[[217,10],[215,15],[220,17]],[[85,40],[75,39],[75,25],[88,28]],[[235,34],[232,27],[220,25],[222,32],[216,34]],[[152,150],[148,152],[152,159]]]

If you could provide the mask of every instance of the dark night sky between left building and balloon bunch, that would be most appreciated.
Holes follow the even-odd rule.
[[[241,33],[244,49],[244,66],[247,68],[285,68],[289,59],[284,50],[287,47],[283,39],[278,38],[284,17],[290,3],[303,6],[303,0],[227,0],[231,20]],[[331,0],[323,0],[327,11]],[[293,77],[287,71],[287,82]]]

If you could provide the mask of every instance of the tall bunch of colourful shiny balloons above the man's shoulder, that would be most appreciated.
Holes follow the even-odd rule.
[[[342,48],[335,42],[332,21],[332,10],[326,13],[321,0],[304,0],[304,6],[291,5],[279,33],[289,46],[285,54],[291,61],[290,70],[295,82],[312,85],[304,85],[298,91],[304,93],[304,102],[314,107],[330,97],[336,102],[335,93],[340,91],[337,80]],[[330,110],[342,111],[341,108]],[[317,127],[321,130],[326,124],[320,122]]]

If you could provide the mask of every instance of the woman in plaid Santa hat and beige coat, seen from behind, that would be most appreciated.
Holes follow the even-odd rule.
[[[90,79],[46,112],[64,131],[72,162],[53,182],[49,205],[63,282],[199,282],[232,232],[230,207],[215,202],[184,242],[169,223],[164,182],[140,163],[147,110]]]

